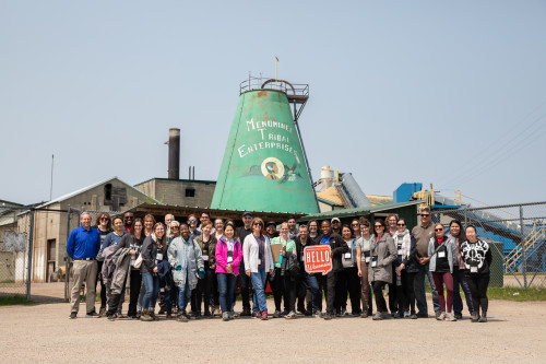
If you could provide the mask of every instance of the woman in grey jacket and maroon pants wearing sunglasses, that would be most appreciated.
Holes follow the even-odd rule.
[[[432,272],[438,301],[440,303],[440,316],[437,320],[456,321],[453,316],[453,261],[456,257],[455,240],[446,235],[442,224],[435,225],[435,237],[428,244],[428,256],[430,257],[429,269]],[[448,292],[447,301],[443,296],[443,286]],[[447,309],[446,309],[447,308]]]

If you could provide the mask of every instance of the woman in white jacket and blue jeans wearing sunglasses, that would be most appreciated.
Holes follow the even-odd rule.
[[[266,320],[268,302],[265,301],[265,281],[268,272],[270,275],[275,274],[271,254],[271,243],[270,238],[262,234],[264,225],[263,220],[253,218],[250,225],[252,226],[252,234],[248,235],[242,244],[245,273],[247,277],[250,277],[252,281],[254,291],[252,295],[252,310],[254,317]],[[286,225],[286,235],[288,235],[288,225]],[[294,249],[296,249],[295,244]]]

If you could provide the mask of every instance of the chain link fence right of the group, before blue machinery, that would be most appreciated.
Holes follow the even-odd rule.
[[[491,246],[491,286],[546,287],[546,202],[432,211],[447,231],[452,220]]]

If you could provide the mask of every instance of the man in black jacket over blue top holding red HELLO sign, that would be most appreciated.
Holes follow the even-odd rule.
[[[327,296],[327,314],[323,318],[325,320],[330,320],[334,314],[335,278],[336,273],[343,269],[342,256],[344,253],[348,251],[348,246],[347,243],[343,240],[341,235],[332,233],[330,221],[322,221],[320,226],[322,235],[317,238],[317,245],[330,245],[330,248],[332,249],[332,270],[325,275],[316,274],[316,277],[321,289],[324,291],[324,295]]]

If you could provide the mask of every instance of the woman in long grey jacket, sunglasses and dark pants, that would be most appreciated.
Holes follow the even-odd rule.
[[[368,277],[376,296],[377,313],[373,320],[391,318],[383,297],[383,287],[392,283],[392,262],[396,259],[396,247],[390,234],[385,234],[387,225],[382,219],[373,222],[376,244],[371,249]]]

